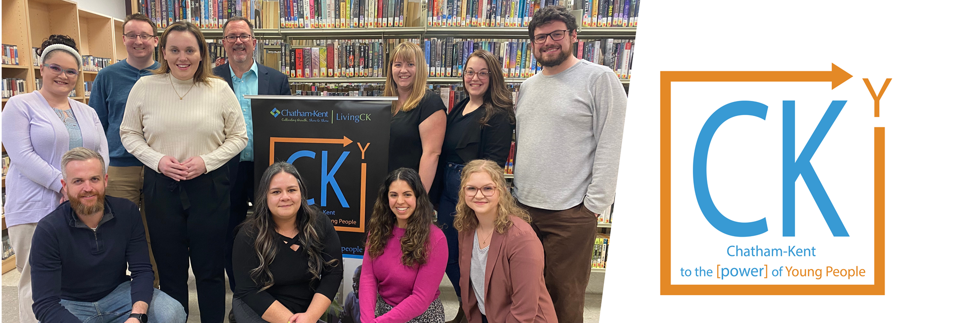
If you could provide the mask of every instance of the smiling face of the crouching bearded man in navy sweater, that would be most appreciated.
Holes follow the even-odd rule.
[[[64,167],[64,187],[71,208],[80,215],[91,215],[105,210],[105,175],[101,161],[91,158],[72,161]]]

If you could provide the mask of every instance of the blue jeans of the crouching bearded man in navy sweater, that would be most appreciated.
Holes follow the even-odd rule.
[[[185,322],[182,304],[160,290],[153,290],[149,322]],[[131,313],[131,281],[122,282],[97,302],[61,300],[60,305],[84,323],[123,323]]]

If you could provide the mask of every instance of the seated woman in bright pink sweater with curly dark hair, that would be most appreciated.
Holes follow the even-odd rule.
[[[361,322],[442,323],[438,286],[449,247],[418,172],[385,178],[371,214],[360,278]]]

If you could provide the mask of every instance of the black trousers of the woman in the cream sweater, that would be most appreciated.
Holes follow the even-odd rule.
[[[203,323],[225,316],[226,222],[229,219],[228,168],[176,181],[145,168],[145,215],[158,265],[160,290],[188,312],[188,265],[192,262]]]

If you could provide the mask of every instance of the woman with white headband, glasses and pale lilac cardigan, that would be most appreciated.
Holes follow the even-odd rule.
[[[21,323],[37,322],[27,262],[37,221],[68,201],[61,185],[61,156],[84,146],[101,153],[108,163],[108,140],[98,114],[68,97],[81,76],[81,54],[74,40],[50,35],[37,54],[41,88],[14,96],[3,112],[3,145],[11,161],[4,209],[20,272]]]

